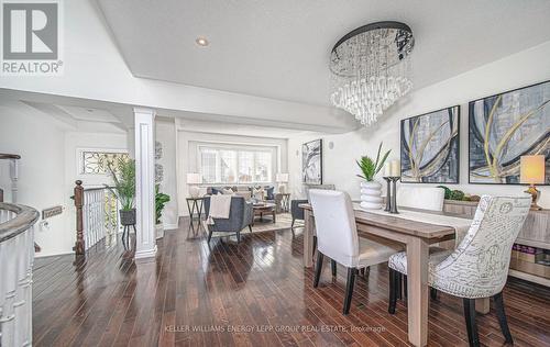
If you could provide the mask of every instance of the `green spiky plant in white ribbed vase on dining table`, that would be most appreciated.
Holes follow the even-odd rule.
[[[382,184],[374,180],[374,176],[380,172],[387,156],[392,150],[388,150],[381,157],[382,143],[378,146],[376,160],[369,156],[363,156],[361,160],[356,160],[363,175],[358,175],[362,179],[361,182],[361,208],[366,210],[378,210],[382,208]]]

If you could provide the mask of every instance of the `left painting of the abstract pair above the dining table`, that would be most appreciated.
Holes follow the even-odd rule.
[[[402,121],[402,181],[459,183],[460,107]]]

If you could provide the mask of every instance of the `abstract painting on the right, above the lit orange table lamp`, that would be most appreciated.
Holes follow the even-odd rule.
[[[519,184],[519,160],[546,156],[550,184],[550,81],[471,101],[469,182]]]

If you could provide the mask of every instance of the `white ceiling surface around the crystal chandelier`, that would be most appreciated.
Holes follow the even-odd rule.
[[[550,41],[546,0],[97,2],[138,77],[321,105],[331,47],[370,22],[413,29],[415,88]]]

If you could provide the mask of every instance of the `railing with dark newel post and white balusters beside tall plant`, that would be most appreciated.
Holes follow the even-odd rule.
[[[84,188],[82,181],[77,180],[75,206],[76,255],[84,255],[106,236],[117,234],[120,230],[118,200],[108,188]]]

